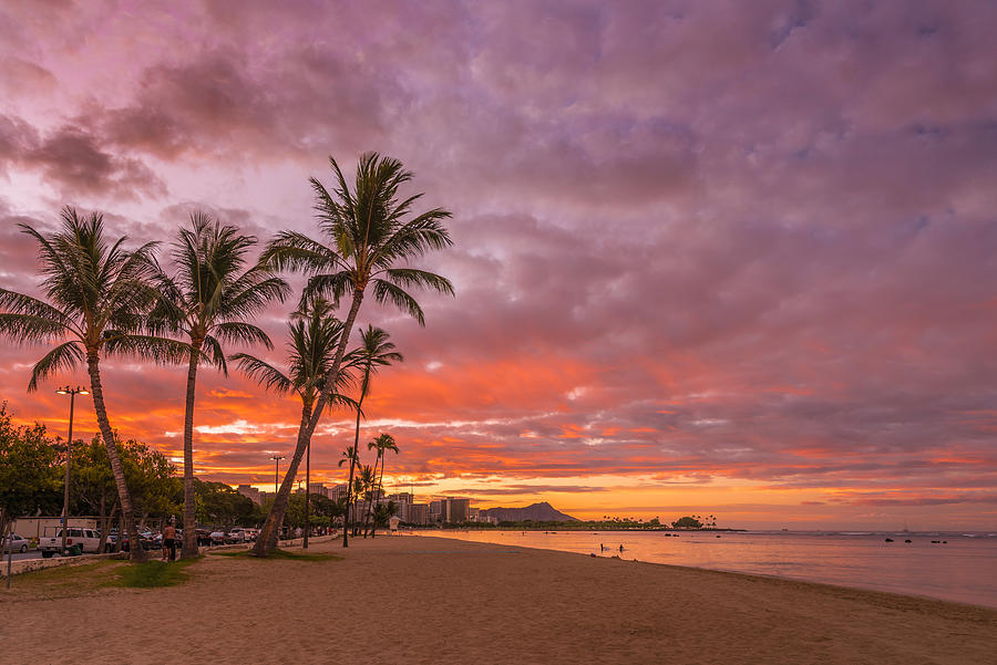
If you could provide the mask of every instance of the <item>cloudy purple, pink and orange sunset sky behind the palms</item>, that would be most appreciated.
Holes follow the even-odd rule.
[[[361,432],[399,443],[389,489],[995,530],[995,29],[972,0],[0,0],[0,285],[39,293],[16,225],[64,205],[131,246],[195,209],[317,237],[308,177],[377,150],[453,212],[422,266],[456,291],[424,328],[360,311],[405,356]],[[44,352],[0,341],[0,395],[64,436],[86,376],[28,394]],[[182,455],[185,368],[104,366],[112,426]],[[298,409],[203,370],[198,476],[273,488]],[[312,479],[351,441],[327,415]]]

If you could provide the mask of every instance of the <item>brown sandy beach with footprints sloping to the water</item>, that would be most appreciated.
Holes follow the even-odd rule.
[[[208,555],[165,589],[0,591],[3,663],[997,663],[997,610],[428,537]],[[27,578],[23,578],[24,580]]]

